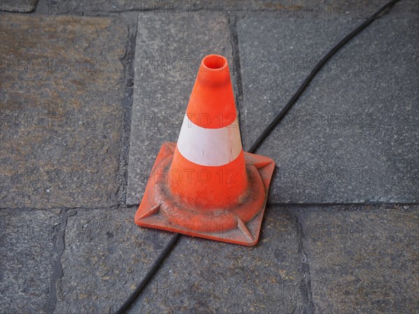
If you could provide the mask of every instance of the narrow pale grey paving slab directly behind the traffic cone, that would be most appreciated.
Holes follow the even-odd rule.
[[[140,203],[161,144],[177,140],[200,61],[214,53],[233,60],[226,17],[139,15],[128,204]]]

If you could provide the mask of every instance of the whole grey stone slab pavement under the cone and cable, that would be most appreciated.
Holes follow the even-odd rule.
[[[386,2],[1,0],[0,313],[114,313],[135,289],[171,234],[133,215],[205,54],[249,149]],[[258,245],[181,237],[130,313],[418,313],[418,17],[370,25],[261,145]]]

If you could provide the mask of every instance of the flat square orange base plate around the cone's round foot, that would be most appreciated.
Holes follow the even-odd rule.
[[[163,160],[170,158],[173,155],[175,147],[176,143],[163,143],[156,161],[154,162],[152,173]],[[206,228],[202,228],[202,230],[191,230],[187,225],[174,225],[160,213],[161,201],[156,202],[156,200],[153,199],[152,189],[154,188],[154,182],[151,179],[147,182],[142,202],[135,214],[135,223],[142,227],[152,227],[160,230],[178,232],[192,237],[201,237],[232,244],[241,244],[244,246],[254,246],[258,243],[260,227],[265,212],[267,190],[270,186],[275,163],[271,158],[246,152],[244,152],[244,158],[256,167],[265,188],[265,202],[263,203],[263,207],[261,207],[258,214],[247,223],[244,223],[240,218],[237,218],[237,225],[230,227],[226,226],[223,230],[217,230],[215,232],[211,232]]]

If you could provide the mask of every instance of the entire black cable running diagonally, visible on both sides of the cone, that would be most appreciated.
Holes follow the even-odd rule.
[[[328,54],[326,54],[325,57],[323,57],[323,59],[321,59],[321,61],[318,61],[318,63],[314,67],[314,69],[311,70],[310,75],[304,80],[304,82],[302,83],[300,88],[297,90],[297,92],[294,94],[294,96],[291,98],[291,100],[288,101],[288,103],[281,110],[281,112],[279,112],[279,114],[277,114],[277,117],[275,117],[275,119],[272,120],[272,122],[265,128],[265,130],[263,130],[262,134],[258,137],[256,142],[254,142],[252,147],[249,149],[249,153],[253,153],[254,151],[256,151],[256,149],[258,149],[258,147],[263,142],[263,140],[265,140],[267,135],[269,135],[271,133],[271,131],[274,129],[274,127],[277,126],[277,124],[279,124],[279,121],[281,121],[281,119],[288,112],[288,110],[290,110],[290,108],[297,102],[298,98],[300,98],[301,94],[304,92],[304,90],[310,84],[311,80],[313,80],[313,78],[316,76],[318,71],[321,68],[323,68],[325,63],[336,52],[338,52],[341,49],[341,47],[344,47],[344,45],[346,45],[346,43],[348,43],[349,40],[351,40],[353,37],[358,35],[358,33],[360,33],[360,31],[362,31],[363,29],[365,29],[369,24],[374,22],[374,20],[376,20],[378,15],[383,13],[384,10],[387,10],[388,8],[391,8],[392,6],[394,6],[398,1],[400,1],[400,0],[392,0],[392,1],[388,2],[387,4],[385,4],[382,8],[380,8],[378,11],[376,11],[376,13],[374,13],[371,17],[369,17],[368,20],[366,20],[365,22],[360,24],[359,27],[357,27],[355,30],[353,30],[351,33],[349,33],[348,36],[346,36],[337,45],[335,45],[335,47],[333,47],[332,50],[330,50],[330,52],[328,52]],[[159,266],[161,265],[161,262],[163,262],[166,255],[168,255],[168,253],[172,250],[172,247],[175,246],[177,240],[180,238],[181,235],[182,234],[175,233],[172,236],[172,238],[170,239],[168,244],[166,244],[165,248],[160,253],[159,257],[157,257],[156,260],[154,260],[154,262],[152,264],[152,267],[150,267],[150,269],[147,271],[147,274],[145,274],[145,277],[142,278],[142,281],[138,285],[137,289],[135,289],[135,291],[131,294],[131,296],[128,299],[126,299],[126,301],[124,302],[124,304],[122,304],[122,306],[119,308],[119,310],[117,311],[116,314],[125,313],[125,311],[131,306],[133,301],[138,297],[138,294],[140,294],[142,289],[144,289],[145,285],[147,285],[147,283],[149,282],[150,278],[152,278],[152,276],[154,275],[156,270],[159,269]]]

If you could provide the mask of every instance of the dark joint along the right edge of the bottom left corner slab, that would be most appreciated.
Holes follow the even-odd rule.
[[[52,257],[52,276],[50,286],[50,297],[47,301],[47,313],[54,313],[57,306],[57,282],[64,276],[61,257],[66,249],[66,227],[68,217],[75,216],[77,211],[60,211],[60,223],[55,227],[57,234],[54,247],[54,256]]]

